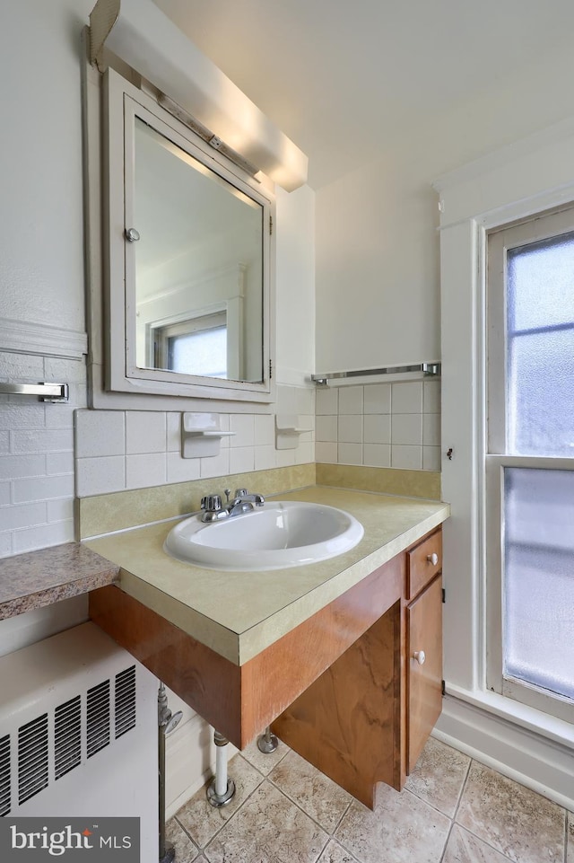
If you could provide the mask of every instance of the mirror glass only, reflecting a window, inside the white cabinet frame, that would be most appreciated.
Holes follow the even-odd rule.
[[[135,118],[136,364],[263,380],[263,207]]]

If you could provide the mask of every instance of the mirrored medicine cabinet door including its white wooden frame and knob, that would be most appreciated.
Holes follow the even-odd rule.
[[[272,401],[272,196],[107,77],[108,389]]]

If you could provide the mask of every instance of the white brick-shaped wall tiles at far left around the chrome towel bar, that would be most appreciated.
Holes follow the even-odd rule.
[[[0,381],[68,383],[67,404],[0,394],[0,557],[74,539],[74,410],[82,360],[0,351]]]

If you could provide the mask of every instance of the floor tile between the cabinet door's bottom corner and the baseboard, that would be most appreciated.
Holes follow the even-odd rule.
[[[470,761],[468,755],[429,737],[405,787],[452,818]]]

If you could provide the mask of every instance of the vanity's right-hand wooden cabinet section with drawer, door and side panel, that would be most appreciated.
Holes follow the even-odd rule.
[[[370,808],[377,782],[403,788],[440,715],[441,538],[439,529],[389,561],[404,573],[396,603],[273,724]]]

